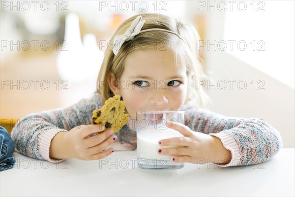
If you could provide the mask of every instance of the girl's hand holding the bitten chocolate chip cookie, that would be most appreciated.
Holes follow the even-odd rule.
[[[113,130],[107,130],[90,137],[91,134],[103,130],[104,126],[102,125],[80,125],[66,132],[62,144],[68,158],[98,160],[113,153],[114,148],[107,149],[117,138]]]

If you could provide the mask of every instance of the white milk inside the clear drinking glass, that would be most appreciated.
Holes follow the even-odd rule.
[[[158,128],[158,127],[156,127]],[[171,156],[158,153],[159,148],[170,148],[177,146],[159,146],[158,141],[172,137],[182,137],[178,131],[161,127],[160,129],[145,129],[137,133],[137,157],[149,160],[170,160]]]

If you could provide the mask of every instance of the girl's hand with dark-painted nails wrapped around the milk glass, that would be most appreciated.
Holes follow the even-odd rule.
[[[176,122],[167,122],[168,128],[180,132],[183,137],[160,140],[160,146],[177,145],[177,148],[159,148],[161,155],[171,155],[171,161],[177,163],[227,164],[231,160],[231,152],[224,148],[217,137],[190,130],[187,126]]]

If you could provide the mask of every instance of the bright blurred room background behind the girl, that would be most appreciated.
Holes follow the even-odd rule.
[[[295,147],[295,2],[289,0],[0,0],[0,119],[11,131],[33,112],[95,91],[109,39],[146,12],[184,18],[200,33],[217,113],[266,121]]]

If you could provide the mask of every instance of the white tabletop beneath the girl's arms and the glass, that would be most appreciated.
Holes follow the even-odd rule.
[[[295,196],[295,149],[263,164],[220,168],[188,164],[177,170],[137,168],[136,151],[97,161],[60,164],[15,153],[0,172],[0,196]]]

